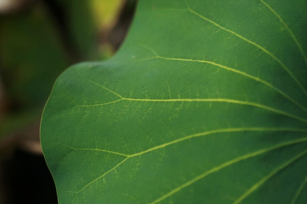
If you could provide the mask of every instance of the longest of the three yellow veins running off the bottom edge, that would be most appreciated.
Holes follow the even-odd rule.
[[[304,139],[305,139],[305,141],[307,141],[306,140],[307,138],[304,138]],[[208,176],[208,175],[210,175],[212,173],[218,172],[221,169],[226,168],[226,167],[228,167],[228,166],[230,166],[230,165],[232,165],[234,163],[237,163],[239,161],[242,161],[242,160],[245,160],[245,159],[249,159],[249,158],[252,158],[252,157],[256,157],[256,156],[258,156],[260,154],[264,154],[264,153],[267,153],[269,151],[273,151],[273,150],[276,150],[276,149],[279,149],[279,148],[282,148],[282,147],[285,147],[285,146],[297,144],[297,143],[300,143],[300,142],[302,142],[302,139],[298,139],[298,140],[294,140],[294,141],[290,141],[290,142],[285,142],[285,143],[282,143],[282,144],[279,144],[279,145],[276,145],[276,146],[273,146],[273,147],[270,147],[270,148],[258,150],[256,152],[253,152],[253,153],[250,153],[250,154],[247,154],[247,155],[235,158],[235,159],[231,159],[230,161],[227,161],[227,162],[225,162],[225,163],[223,163],[223,164],[221,164],[219,166],[216,166],[216,167],[206,171],[205,173],[195,177],[194,179],[192,179],[190,181],[187,181],[187,182],[183,183],[182,185],[179,185],[178,187],[176,187],[173,190],[169,191],[165,195],[163,195],[160,198],[154,200],[150,204],[157,204],[157,203],[163,201],[164,199],[172,196],[173,194],[179,192],[180,190],[182,190],[182,189],[192,185],[196,181],[200,181],[201,179],[205,178],[206,176]],[[304,152],[304,153],[306,154],[307,152]]]

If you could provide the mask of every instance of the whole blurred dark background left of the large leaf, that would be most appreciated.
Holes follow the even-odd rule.
[[[66,68],[114,54],[134,10],[135,0],[0,0],[0,204],[57,204],[44,105]]]

